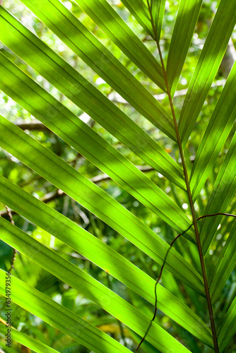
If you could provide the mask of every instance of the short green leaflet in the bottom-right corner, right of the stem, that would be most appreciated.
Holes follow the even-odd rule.
[[[228,343],[232,339],[233,335],[235,335],[236,331],[236,297],[232,301],[230,308],[228,309],[225,319],[223,321],[222,327],[219,332],[219,346],[220,353],[226,352],[225,348],[228,346]]]

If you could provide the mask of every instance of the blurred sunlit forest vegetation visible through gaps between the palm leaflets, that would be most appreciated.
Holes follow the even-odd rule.
[[[138,68],[120,51],[115,44],[98,28],[98,26],[91,20],[81,8],[73,1],[62,1],[64,5],[69,8],[76,17],[81,20],[81,22],[93,32],[93,34],[99,38],[99,40],[106,45],[108,49],[126,66],[126,68],[131,71],[131,73],[141,81],[141,83],[153,94],[157,95],[157,99],[162,102],[167,111],[170,111],[168,106],[167,96],[158,88],[154,83],[151,82]],[[129,24],[130,28],[138,35],[138,37],[143,41],[144,44],[151,50],[153,55],[158,59],[158,52],[155,42],[146,35],[143,28],[136,22],[136,20],[131,16],[131,14],[123,6],[122,2],[119,0],[109,0],[114,9],[119,13],[120,16]],[[194,72],[201,48],[203,47],[203,42],[206,38],[209,26],[211,25],[211,20],[213,18],[213,13],[216,10],[218,1],[205,0],[203,1],[203,7],[201,9],[201,14],[196,25],[196,30],[194,32],[194,37],[191,42],[191,47],[189,48],[189,54],[187,56],[187,61],[184,64],[182,71],[182,76],[179,80],[179,85],[177,88],[177,95],[175,97],[175,109],[177,115],[182,107],[182,102],[184,100],[185,89],[189,85],[191,75]],[[49,45],[55,52],[57,52],[61,57],[71,64],[76,70],[78,70],[85,78],[87,78],[93,85],[95,85],[99,90],[106,96],[110,98],[115,104],[118,105],[131,119],[134,119],[136,123],[143,128],[154,140],[165,146],[165,150],[175,158],[179,160],[178,148],[172,140],[167,138],[158,128],[155,128],[149,121],[143,118],[141,114],[136,112],[129,104],[127,104],[122,97],[120,97],[110,85],[105,83],[102,78],[98,76],[90,67],[83,63],[81,59],[78,58],[71,49],[66,47],[66,44],[61,42],[59,38],[54,35],[54,33],[49,30],[43,23],[40,22],[30,11],[26,8],[20,0],[2,0],[1,5],[4,6],[8,11],[10,11],[13,16],[16,16],[27,28],[38,35],[40,39]],[[163,22],[163,30],[161,35],[161,49],[163,51],[164,59],[167,59],[167,52],[170,45],[170,38],[172,35],[173,25],[175,23],[175,18],[177,15],[179,1],[169,0],[166,1],[165,17]],[[191,134],[191,138],[188,141],[185,157],[187,159],[187,167],[190,169],[191,164],[194,161],[194,156],[198,148],[199,142],[203,136],[206,129],[206,124],[210,118],[213,107],[215,106],[220,92],[223,88],[225,78],[228,76],[228,72],[232,66],[232,58],[235,56],[235,43],[236,43],[236,32],[233,33],[232,43],[228,47],[228,50],[223,59],[223,64],[220,66],[220,71],[216,76],[214,85],[211,88],[206,102],[203,106],[199,119],[196,123],[196,127]],[[155,184],[157,184],[161,189],[163,189],[171,198],[175,200],[177,205],[185,210],[190,216],[187,205],[187,195],[181,189],[170,184],[165,177],[160,173],[155,172],[144,164],[144,162],[134,155],[129,149],[124,147],[119,141],[114,138],[110,133],[105,131],[102,126],[90,119],[90,117],[84,114],[81,109],[79,109],[75,104],[73,104],[68,98],[61,94],[56,88],[54,88],[45,78],[42,78],[33,68],[30,68],[24,61],[22,61],[16,54],[13,54],[11,50],[1,44],[0,50],[11,59],[15,64],[17,64],[28,76],[32,77],[37,81],[43,88],[50,92],[54,97],[62,102],[66,107],[71,109],[72,112],[80,116],[83,121],[89,124],[93,129],[102,135],[109,143],[114,145],[119,152],[125,155],[131,162],[138,165],[143,172],[146,172],[148,177],[150,177]],[[57,137],[52,131],[49,131],[45,126],[36,121],[34,116],[31,116],[25,109],[21,108],[18,104],[13,102],[11,98],[6,96],[4,92],[0,91],[0,114],[5,116],[10,121],[23,128],[30,136],[33,136],[36,140],[40,141],[42,145],[45,145],[49,150],[52,150],[55,154],[59,155],[67,163],[71,164],[75,169],[78,169],[81,174],[92,179],[96,184],[98,184],[102,189],[109,193],[113,198],[115,198],[119,203],[124,205],[125,208],[129,209],[131,213],[134,213],[138,218],[143,220],[148,227],[151,227],[153,231],[160,237],[165,239],[167,242],[171,242],[177,235],[170,226],[165,224],[156,215],[154,215],[146,207],[138,203],[133,196],[129,195],[120,186],[117,186],[114,181],[110,180],[102,174],[102,172],[95,167],[92,163],[82,155],[79,155],[76,150],[67,145],[61,138]],[[1,133],[1,131],[0,131]],[[206,200],[212,189],[212,180],[215,180],[216,174],[220,165],[223,162],[225,152],[228,150],[228,144],[232,135],[229,136],[229,140],[225,143],[223,150],[221,150],[218,156],[218,161],[216,162],[214,168],[211,171],[210,177],[206,182],[204,189],[201,191],[201,195],[196,203],[197,215],[203,215],[203,210],[206,206]],[[98,217],[89,213],[81,205],[73,201],[69,196],[66,196],[61,191],[57,190],[55,186],[49,183],[49,181],[40,177],[40,175],[33,172],[28,167],[25,167],[19,160],[10,155],[8,152],[0,149],[0,174],[4,177],[13,181],[13,183],[18,184],[23,187],[29,193],[32,193],[36,198],[40,198],[45,201],[50,207],[55,208],[59,213],[62,213],[66,217],[81,225],[88,232],[92,233],[95,237],[98,237],[105,243],[109,244],[112,249],[124,255],[132,263],[134,263],[138,268],[144,270],[148,275],[153,278],[158,277],[160,266],[157,265],[151,258],[146,256],[142,251],[138,250],[129,241],[124,239],[121,235],[117,234],[112,228],[102,222]],[[229,212],[232,212],[235,208],[236,198],[232,200]],[[2,217],[8,219],[6,213],[6,208],[0,203],[0,213]],[[83,269],[86,273],[89,273],[97,280],[102,282],[102,284],[107,287],[111,287],[114,292],[124,297],[127,301],[130,301],[138,309],[141,309],[148,317],[153,315],[153,306],[146,302],[144,299],[138,296],[138,294],[131,291],[121,282],[117,281],[111,277],[107,272],[101,270],[96,265],[83,258],[79,253],[76,253],[69,246],[64,244],[52,237],[44,230],[35,226],[23,217],[13,213],[13,220],[17,227],[20,227],[25,232],[31,235],[31,237],[37,239],[37,241],[49,246],[61,256],[64,256],[71,263],[77,265],[79,268]],[[218,227],[218,232],[214,241],[211,244],[210,251],[208,252],[206,262],[208,269],[211,270],[211,265],[216,265],[218,254],[223,249],[226,239],[230,229],[232,228],[233,220],[223,219],[222,224]],[[191,247],[191,252],[190,252]],[[194,252],[193,246],[188,244],[186,239],[179,239],[175,244],[175,249],[181,251],[189,262],[199,268],[198,253]],[[13,256],[13,249],[5,244],[3,241],[0,242],[0,268],[6,270],[9,268],[11,259]],[[40,292],[47,294],[55,301],[59,302],[66,308],[71,309],[79,316],[85,318],[93,325],[96,325],[101,330],[114,337],[114,339],[119,340],[131,350],[134,350],[137,343],[140,340],[134,332],[126,328],[122,323],[119,323],[115,318],[107,314],[104,310],[100,309],[92,301],[86,299],[81,294],[76,292],[64,282],[61,282],[49,274],[46,270],[41,268],[39,265],[31,261],[29,258],[23,256],[20,253],[16,254],[16,260],[14,262],[14,268],[12,271],[13,275],[20,278],[21,280],[27,282],[29,285],[37,288]],[[217,304],[216,320],[220,321],[220,316],[224,310],[228,309],[228,302],[230,298],[235,296],[236,292],[236,273],[232,272],[223,292],[223,296]],[[206,311],[204,309],[203,298],[195,294],[189,287],[183,285],[179,280],[176,280],[170,273],[164,270],[162,277],[163,285],[169,289],[173,294],[182,299],[187,305],[191,307],[194,311],[200,313],[201,318],[205,318]],[[191,299],[190,299],[191,298]],[[0,316],[4,317],[4,304],[5,299],[0,297]],[[45,342],[47,345],[57,349],[59,352],[63,353],[87,353],[90,352],[89,349],[82,347],[78,342],[60,333],[58,330],[54,329],[52,326],[33,316],[31,313],[21,309],[19,306],[13,304],[12,312],[12,325],[13,327],[21,330],[23,333],[35,337],[41,342]],[[155,319],[165,330],[175,336],[180,342],[183,342],[192,352],[211,352],[211,349],[205,348],[199,344],[196,339],[187,333],[183,328],[179,327],[170,318],[165,316],[162,312],[158,311],[157,318]],[[206,319],[207,320],[207,319]],[[5,346],[4,337],[0,335],[0,347],[2,347],[4,352],[30,352],[29,349],[21,346],[17,342],[12,343],[11,348]],[[143,344],[141,352],[157,352],[157,349],[153,349],[148,344]],[[228,346],[227,352],[236,352],[236,342],[233,342]]]

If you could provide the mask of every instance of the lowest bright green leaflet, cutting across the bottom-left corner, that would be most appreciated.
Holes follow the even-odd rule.
[[[4,339],[6,338],[7,329],[5,325],[0,323],[0,333],[4,335]],[[15,328],[11,328],[11,340],[19,342],[20,345],[28,347],[32,349],[34,352],[37,353],[59,353],[56,349],[45,345],[40,341],[35,340],[35,338],[31,337],[30,335],[25,335],[25,333],[16,330]]]

